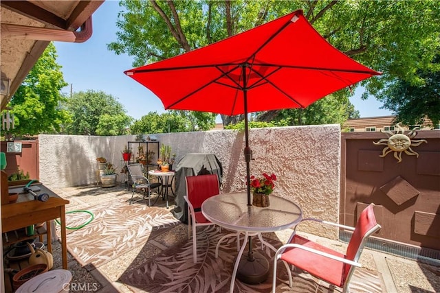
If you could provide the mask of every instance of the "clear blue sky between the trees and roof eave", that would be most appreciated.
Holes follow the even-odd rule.
[[[116,55],[107,49],[107,44],[116,40],[115,23],[120,10],[118,1],[104,1],[93,15],[93,34],[89,40],[85,43],[54,42],[58,54],[56,62],[63,67],[64,79],[72,84],[74,92],[104,91],[116,97],[124,105],[127,114],[135,119],[151,111],[164,113],[164,106],[158,97],[124,75],[125,70],[133,68],[133,58]],[[63,92],[70,93],[70,87],[65,87]],[[362,90],[357,89],[351,97],[351,103],[359,110],[360,117],[391,115],[389,110],[379,109],[382,103],[374,97],[363,101],[361,94]]]

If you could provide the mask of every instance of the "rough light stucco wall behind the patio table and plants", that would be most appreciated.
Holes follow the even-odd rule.
[[[170,145],[177,162],[191,152],[213,153],[223,165],[222,192],[244,191],[244,133],[236,130],[156,134]],[[53,187],[96,183],[96,157],[120,165],[120,151],[135,136],[88,137],[40,135],[40,180]],[[251,174],[274,173],[274,195],[293,200],[305,217],[338,222],[340,193],[340,126],[294,126],[250,130]],[[333,228],[300,230],[338,237]]]

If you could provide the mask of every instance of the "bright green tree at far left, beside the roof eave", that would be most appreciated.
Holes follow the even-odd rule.
[[[56,133],[69,122],[67,111],[60,107],[65,100],[61,89],[67,86],[61,66],[56,63],[56,49],[50,43],[9,103],[14,114],[15,137]]]

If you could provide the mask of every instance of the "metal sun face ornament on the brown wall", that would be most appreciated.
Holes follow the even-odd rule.
[[[415,141],[411,141],[413,137],[417,135],[415,130],[420,128],[415,127],[410,130],[407,134],[404,134],[404,128],[401,127],[401,124],[397,124],[397,131],[382,131],[388,134],[390,137],[388,139],[381,139],[380,141],[374,142],[375,145],[388,145],[384,150],[382,150],[382,154],[380,155],[382,158],[386,156],[390,152],[394,152],[394,157],[401,162],[401,153],[405,152],[405,154],[419,157],[419,154],[411,149],[412,146],[419,146],[421,143],[428,143],[425,139],[419,139]]]

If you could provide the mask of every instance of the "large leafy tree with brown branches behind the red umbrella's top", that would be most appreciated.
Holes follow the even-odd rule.
[[[133,66],[155,62],[214,43],[297,9],[329,42],[383,74],[362,82],[377,95],[395,78],[420,82],[440,49],[440,5],[416,1],[120,1],[115,54],[134,57]],[[348,97],[346,89],[338,95]],[[349,104],[347,104],[349,105]],[[267,117],[274,117],[279,110]],[[223,124],[243,115],[222,115]]]

